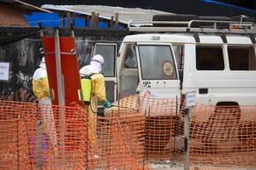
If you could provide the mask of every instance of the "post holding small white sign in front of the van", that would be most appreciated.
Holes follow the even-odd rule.
[[[191,115],[191,108],[185,109],[185,117],[184,117],[184,127],[185,127],[185,138],[184,138],[184,147],[185,147],[185,165],[184,169],[189,169],[189,116]]]

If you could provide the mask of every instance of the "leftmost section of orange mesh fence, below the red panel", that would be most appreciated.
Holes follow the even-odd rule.
[[[60,121],[60,113],[67,121]],[[0,101],[1,169],[90,166],[84,159],[85,120],[77,107]]]

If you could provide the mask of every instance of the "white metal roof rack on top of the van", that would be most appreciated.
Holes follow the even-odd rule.
[[[256,33],[253,22],[190,20],[190,21],[145,21],[131,20],[130,32],[208,32],[208,33]]]

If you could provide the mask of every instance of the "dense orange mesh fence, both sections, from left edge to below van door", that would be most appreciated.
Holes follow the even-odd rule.
[[[143,114],[98,117],[93,147],[87,120],[78,106],[0,101],[0,168],[148,169]]]

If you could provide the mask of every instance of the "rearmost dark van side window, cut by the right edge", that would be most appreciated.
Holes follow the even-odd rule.
[[[256,70],[255,50],[252,46],[228,46],[230,70]]]

